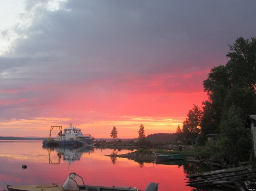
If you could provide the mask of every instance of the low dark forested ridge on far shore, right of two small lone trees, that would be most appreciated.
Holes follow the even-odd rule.
[[[155,133],[149,134],[147,139],[151,142],[173,143],[176,142],[177,135],[178,133]]]

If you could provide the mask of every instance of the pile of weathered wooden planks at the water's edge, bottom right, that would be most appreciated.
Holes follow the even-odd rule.
[[[211,172],[187,175],[187,178],[194,179],[188,181],[186,186],[207,189],[212,191],[222,190],[245,190],[241,182],[256,179],[256,170],[252,166],[241,166],[230,169],[222,169]],[[252,185],[247,184],[248,188]],[[247,190],[246,189],[246,190]],[[255,189],[255,187],[254,187]]]

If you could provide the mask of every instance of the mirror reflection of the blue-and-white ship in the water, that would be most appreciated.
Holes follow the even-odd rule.
[[[79,161],[82,154],[90,154],[91,151],[94,150],[94,147],[92,146],[57,146],[57,147],[53,147],[53,146],[47,146],[47,145],[43,145],[44,149],[48,150],[48,156],[49,156],[49,163],[50,164],[60,164],[61,163],[61,158],[64,161],[68,161],[69,164],[73,163],[75,161]],[[57,159],[56,157],[52,157],[51,156],[51,152],[55,151],[57,153]],[[54,160],[52,160],[52,158],[54,158]]]

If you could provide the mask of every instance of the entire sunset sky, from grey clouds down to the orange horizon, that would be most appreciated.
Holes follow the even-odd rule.
[[[256,1],[0,0],[0,136],[174,133]],[[56,130],[57,131],[57,130]],[[57,132],[53,132],[53,134]]]

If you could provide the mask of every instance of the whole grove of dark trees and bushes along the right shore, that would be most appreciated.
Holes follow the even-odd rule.
[[[202,157],[224,156],[237,164],[249,161],[251,154],[251,130],[245,123],[248,115],[256,115],[256,39],[239,37],[228,46],[229,61],[212,68],[203,81],[208,100],[201,108],[194,105],[176,132],[178,140],[201,145]],[[217,133],[220,139],[207,142],[206,135]]]

